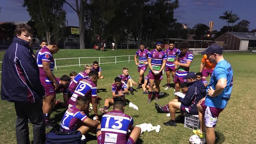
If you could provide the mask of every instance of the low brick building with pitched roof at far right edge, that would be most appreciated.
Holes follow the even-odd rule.
[[[256,50],[256,33],[226,32],[214,41],[226,50]]]

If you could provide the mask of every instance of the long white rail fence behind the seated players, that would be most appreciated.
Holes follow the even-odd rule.
[[[60,68],[60,67],[68,67],[68,66],[80,66],[81,67],[81,65],[91,65],[92,63],[87,63],[87,64],[82,64],[81,63],[81,59],[97,59],[98,60],[98,63],[99,63],[99,65],[100,64],[106,64],[106,63],[115,63],[115,64],[117,64],[117,63],[121,63],[121,62],[126,62],[126,61],[128,61],[128,63],[130,63],[130,61],[134,61],[134,59],[130,59],[130,57],[134,57],[134,55],[120,55],[120,56],[114,56],[115,57],[115,61],[113,61],[113,62],[103,62],[103,63],[101,63],[100,61],[104,61],[104,58],[113,58],[113,57],[72,57],[72,58],[62,58],[62,59],[54,59],[54,63],[55,63],[55,66],[54,66],[54,68],[57,70],[57,68]],[[128,60],[126,60],[126,61],[117,61],[117,57],[128,57]],[[58,63],[58,60],[66,60],[66,59],[78,59],[78,64],[76,64],[76,65],[61,65],[61,66],[58,66],[57,65],[57,63]]]

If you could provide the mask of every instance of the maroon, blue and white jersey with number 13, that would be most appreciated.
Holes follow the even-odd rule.
[[[102,116],[101,144],[126,144],[126,133],[134,126],[131,116],[122,111],[110,111]]]

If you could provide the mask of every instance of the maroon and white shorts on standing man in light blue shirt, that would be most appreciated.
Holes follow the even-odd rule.
[[[223,109],[206,106],[204,102],[205,101],[201,103],[201,106],[204,110],[204,124],[207,127],[215,127],[218,121],[219,114],[223,111]]]

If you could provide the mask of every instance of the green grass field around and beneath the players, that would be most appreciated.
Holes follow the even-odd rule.
[[[135,50],[108,50],[105,53],[95,50],[60,50],[58,54],[54,55],[55,58],[67,57],[102,57],[113,55],[134,55]],[[3,57],[3,52],[0,53],[0,59]],[[228,102],[226,109],[220,114],[215,133],[217,136],[216,143],[218,144],[255,144],[256,125],[255,125],[255,111],[256,111],[256,55],[253,54],[224,54],[224,58],[229,61],[234,71],[234,87],[232,96]],[[91,63],[88,61],[88,63]],[[97,59],[95,59],[97,60]],[[200,65],[201,55],[195,55],[191,64],[190,71],[198,72]],[[63,61],[60,65],[65,65],[67,62]],[[125,62],[115,64],[102,64],[102,75],[105,79],[98,81],[98,96],[102,98],[100,108],[104,104],[104,99],[111,97],[111,84],[114,78],[122,73],[122,68],[129,68],[129,74],[134,81],[138,81],[137,66],[134,62]],[[83,67],[71,66],[58,68],[54,71],[55,76],[61,77],[66,74],[69,75],[70,71],[80,72]],[[148,72],[146,72],[148,73]],[[166,76],[163,75],[161,86],[166,84]],[[209,78],[208,78],[209,81]],[[174,98],[173,88],[163,90],[167,96],[160,97],[158,104],[165,105],[167,102]],[[59,99],[62,98],[61,94],[57,94]],[[134,118],[135,125],[142,123],[151,123],[156,126],[160,124],[160,133],[145,132],[141,135],[138,143],[144,144],[187,144],[189,137],[193,135],[191,129],[184,127],[184,124],[178,124],[177,127],[165,126],[163,122],[170,120],[166,114],[159,114],[154,107],[155,101],[147,104],[147,94],[142,94],[142,90],[135,92],[134,95],[126,96],[128,100],[135,103],[139,107],[139,111],[126,106],[125,113]],[[110,110],[112,107],[110,108]],[[50,119],[60,122],[64,109],[53,111]],[[179,114],[176,114],[178,116]],[[14,104],[0,100],[0,137],[3,138],[1,144],[14,144],[16,143],[15,137],[15,109]],[[30,126],[30,138],[32,140],[32,125]],[[50,129],[46,129],[48,132]],[[96,136],[90,134],[88,144],[96,143]]]

